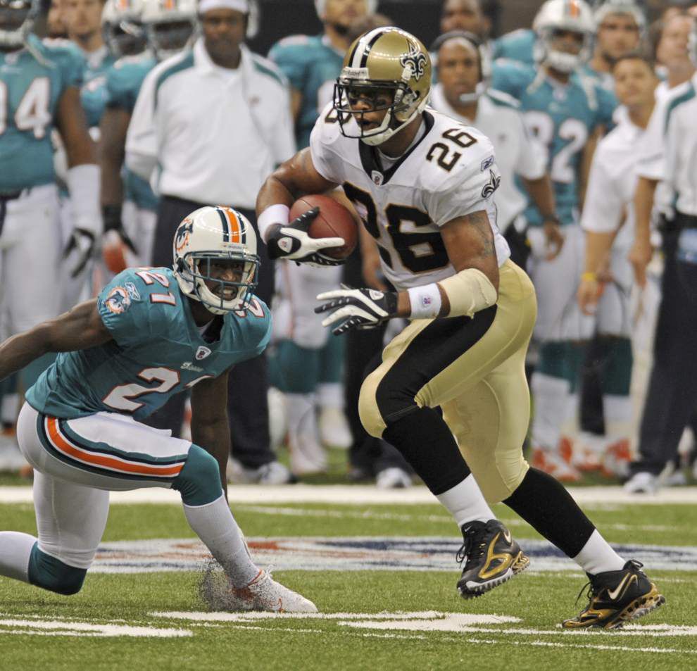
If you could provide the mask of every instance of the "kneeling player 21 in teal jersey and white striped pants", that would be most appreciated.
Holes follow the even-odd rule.
[[[315,612],[252,562],[222,484],[227,371],[263,351],[271,327],[253,295],[253,227],[230,208],[200,208],[177,228],[173,251],[172,268],[125,270],[96,299],[0,345],[0,380],[59,352],[18,421],[38,538],[0,532],[0,575],[75,594],[106,525],[108,492],[165,487],[180,492],[189,525],[225,570],[225,607]],[[186,389],[193,443],[139,421]]]

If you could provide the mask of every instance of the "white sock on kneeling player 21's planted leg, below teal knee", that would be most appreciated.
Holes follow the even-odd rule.
[[[184,503],[184,515],[234,587],[244,587],[256,577],[259,567],[249,556],[244,536],[232,517],[225,495],[221,494],[220,498],[205,506]]]

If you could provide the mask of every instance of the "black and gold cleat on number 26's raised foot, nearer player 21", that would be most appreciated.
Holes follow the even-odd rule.
[[[525,570],[530,560],[498,520],[470,522],[462,528],[464,542],[456,558],[465,562],[458,580],[462,598],[482,596]]]

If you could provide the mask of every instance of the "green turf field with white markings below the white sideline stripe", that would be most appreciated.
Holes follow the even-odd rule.
[[[201,548],[180,507],[113,505],[94,565],[107,572],[91,572],[80,594],[61,597],[0,578],[0,670],[697,668],[693,505],[586,506],[613,544],[648,553],[648,567],[658,567],[651,577],[667,599],[636,625],[591,633],[558,627],[580,610],[582,600],[574,599],[584,575],[548,558],[537,534],[503,506],[495,512],[524,547],[527,539],[532,564],[474,601],[456,594],[458,538],[437,505],[232,507],[253,553],[273,561],[277,551],[275,577],[312,598],[320,615],[206,612],[196,589]],[[0,520],[3,529],[35,532],[30,503],[1,504]],[[185,570],[111,572],[142,560],[138,544],[127,541],[149,539],[170,544],[170,562],[193,563]],[[396,554],[381,554],[382,539]],[[399,570],[401,561],[422,570]],[[365,570],[370,562],[375,565]],[[444,570],[424,570],[430,565]]]

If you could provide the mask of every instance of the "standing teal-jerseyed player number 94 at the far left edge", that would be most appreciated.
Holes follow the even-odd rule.
[[[79,273],[100,229],[99,170],[80,109],[82,59],[32,35],[39,1],[4,6],[0,13],[0,330],[14,334],[60,312],[61,265]],[[66,180],[75,201],[63,247],[51,134],[65,144]],[[65,249],[67,259],[61,263]],[[40,272],[37,269],[41,269]],[[46,282],[48,278],[48,282]],[[33,384],[45,359],[22,372]],[[19,453],[11,463],[18,468]]]

